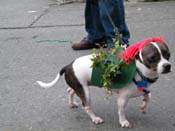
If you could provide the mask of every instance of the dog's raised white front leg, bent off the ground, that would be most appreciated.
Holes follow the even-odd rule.
[[[142,105],[140,106],[140,110],[142,113],[146,113],[147,109],[148,109],[148,104],[149,104],[150,99],[151,99],[151,93],[144,94],[143,97],[144,97],[144,99],[143,99]]]

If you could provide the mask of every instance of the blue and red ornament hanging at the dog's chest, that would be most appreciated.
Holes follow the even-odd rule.
[[[134,83],[136,84],[139,91],[143,91],[145,94],[149,94],[150,91],[148,90],[148,81],[146,80],[140,80],[136,81],[135,78],[133,78]]]

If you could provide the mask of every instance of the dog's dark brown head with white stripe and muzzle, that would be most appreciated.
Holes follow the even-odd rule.
[[[171,72],[170,51],[166,44],[150,42],[136,56],[136,67],[147,77]]]

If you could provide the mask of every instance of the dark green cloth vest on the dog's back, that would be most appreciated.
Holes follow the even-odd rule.
[[[116,55],[111,55],[108,60],[111,63],[117,63],[121,59],[116,57]],[[97,87],[103,87],[103,74],[105,69],[99,64],[92,69],[91,84]],[[112,89],[121,89],[126,85],[130,84],[135,76],[136,65],[134,60],[130,61],[129,64],[120,68],[121,74],[117,75],[112,79],[111,87]]]

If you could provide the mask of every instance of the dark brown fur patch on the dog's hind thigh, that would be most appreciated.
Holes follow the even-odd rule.
[[[77,96],[80,97],[80,99],[82,100],[82,105],[85,106],[86,97],[85,97],[84,89],[74,74],[72,64],[73,62],[64,68],[65,80],[66,80],[66,83],[75,91]]]

